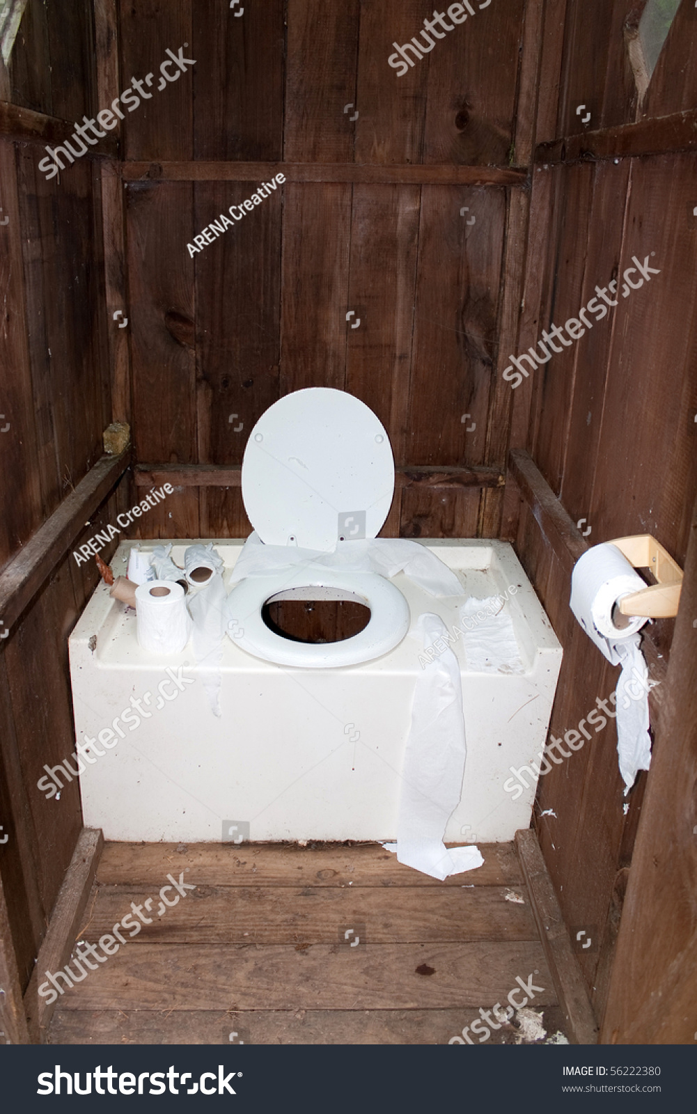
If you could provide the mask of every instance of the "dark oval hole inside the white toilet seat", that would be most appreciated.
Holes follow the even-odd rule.
[[[269,596],[262,618],[282,638],[318,644],[353,638],[370,623],[371,609],[352,592],[310,586]]]

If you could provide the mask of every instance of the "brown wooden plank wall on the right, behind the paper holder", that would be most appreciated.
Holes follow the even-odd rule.
[[[540,111],[539,140],[582,131],[580,104],[591,113],[589,128],[637,118],[621,38],[631,7],[631,0],[591,9],[568,0],[558,116],[554,121]],[[560,4],[550,3],[548,42],[559,39],[560,27]],[[685,65],[696,37],[697,10],[683,3],[639,119],[697,105],[694,68]],[[548,68],[552,61],[550,50]],[[551,322],[578,317],[596,284],[607,290],[618,278],[621,292],[632,256],[648,257],[660,274],[626,299],[620,293],[607,317],[526,380],[514,392],[512,433],[512,443],[531,452],[572,520],[585,519],[582,530],[590,527],[590,544],[650,532],[681,565],[697,492],[696,170],[691,153],[537,167],[531,241],[537,236],[539,245],[534,255],[529,245],[537,265],[527,275],[519,351],[537,343]],[[508,528],[512,524],[514,530],[519,508],[511,494],[507,504]],[[551,723],[551,733],[560,736],[578,725],[597,696],[607,698],[617,671],[576,624],[568,574],[526,507],[517,548],[565,646]],[[674,626],[669,619],[652,626],[665,661]],[[579,958],[599,1019],[645,783],[641,774],[629,798],[622,797],[611,724],[540,783],[540,844],[566,921],[595,938]],[[556,814],[542,817],[550,809]]]

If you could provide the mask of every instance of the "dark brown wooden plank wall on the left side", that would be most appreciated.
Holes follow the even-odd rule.
[[[30,0],[8,77],[17,105],[91,116],[88,0]],[[0,567],[99,459],[111,420],[99,167],[84,158],[46,182],[43,156],[41,144],[0,139]],[[78,545],[114,521],[122,497]],[[19,623],[0,626],[0,874],[22,986],[82,827],[76,782],[47,801],[37,781],[73,750],[67,636],[96,579],[68,556]]]

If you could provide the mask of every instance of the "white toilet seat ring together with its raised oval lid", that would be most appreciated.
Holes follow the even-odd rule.
[[[345,391],[308,388],[286,394],[252,430],[242,465],[242,498],[267,546],[334,551],[343,541],[375,538],[394,495],[394,458],[381,421]],[[355,600],[367,625],[336,643],[292,642],[264,622],[266,603]],[[252,575],[227,599],[228,632],[242,649],[277,665],[332,668],[371,662],[404,638],[402,593],[377,573],[287,568]]]

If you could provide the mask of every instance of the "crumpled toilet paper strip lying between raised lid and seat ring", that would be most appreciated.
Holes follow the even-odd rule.
[[[310,570],[341,568],[347,573],[379,573],[391,577],[403,571],[432,596],[460,596],[462,585],[435,554],[406,538],[366,538],[342,541],[332,553],[295,546],[265,546],[256,530],[249,535],[237,558],[230,585],[247,576],[268,576],[304,565]]]

